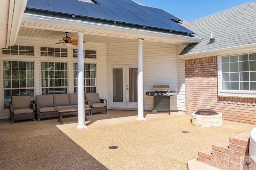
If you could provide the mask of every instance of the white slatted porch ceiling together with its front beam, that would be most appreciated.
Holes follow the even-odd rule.
[[[136,41],[139,38],[146,41],[162,43],[190,44],[197,43],[200,38],[158,31],[148,31],[129,27],[107,25],[88,21],[40,16],[24,13],[18,31],[18,39],[22,37],[61,40],[68,32],[68,36],[77,39],[78,32],[84,32],[84,41],[91,43],[124,43]],[[54,42],[52,42],[54,45]]]

